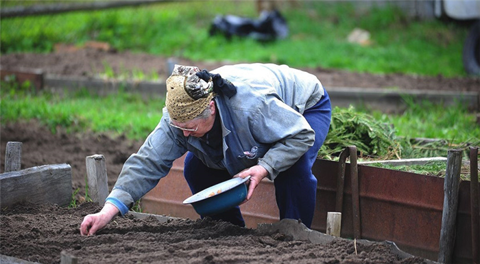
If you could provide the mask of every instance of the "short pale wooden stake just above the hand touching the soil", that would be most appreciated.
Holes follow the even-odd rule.
[[[86,176],[88,179],[88,196],[101,206],[108,196],[108,176],[104,155],[86,157]]]

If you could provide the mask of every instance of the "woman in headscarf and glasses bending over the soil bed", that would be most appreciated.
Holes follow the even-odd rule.
[[[193,194],[250,175],[248,201],[267,177],[274,181],[280,219],[311,226],[317,187],[311,168],[331,120],[330,99],[315,76],[274,64],[212,72],[176,65],[165,105],[157,127],[125,161],[104,208],[84,218],[82,235],[125,215],[184,153]],[[245,226],[239,207],[212,218]]]

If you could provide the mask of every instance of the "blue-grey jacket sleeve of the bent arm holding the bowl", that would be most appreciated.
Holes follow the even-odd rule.
[[[256,140],[273,144],[258,161],[271,180],[293,166],[315,142],[315,131],[307,120],[274,96],[259,105],[253,123]]]

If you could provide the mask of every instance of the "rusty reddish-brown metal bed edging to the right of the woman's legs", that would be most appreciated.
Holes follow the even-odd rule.
[[[362,239],[389,240],[410,254],[437,259],[442,224],[444,179],[358,165]],[[325,232],[326,215],[336,207],[336,161],[319,159],[317,208],[312,228]],[[350,164],[346,164],[346,171]],[[345,174],[341,237],[353,237],[350,173]],[[455,263],[471,263],[470,182],[460,185]]]

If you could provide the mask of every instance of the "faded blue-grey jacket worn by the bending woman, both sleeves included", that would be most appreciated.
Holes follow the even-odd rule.
[[[237,94],[216,96],[224,159],[214,163],[196,137],[169,126],[167,109],[138,153],[125,161],[107,198],[124,215],[134,201],[166,176],[175,159],[191,151],[207,166],[233,176],[256,164],[274,180],[313,145],[315,132],[302,114],[320,101],[324,89],[314,76],[288,66],[237,64],[212,70],[237,87]]]

